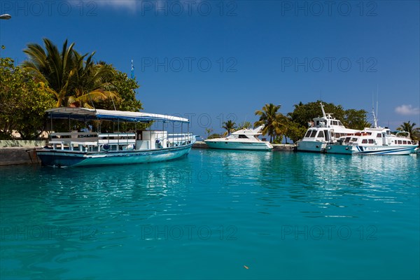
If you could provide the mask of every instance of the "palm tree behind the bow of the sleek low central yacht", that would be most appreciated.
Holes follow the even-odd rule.
[[[256,116],[260,116],[260,120],[254,123],[254,127],[265,125],[262,129],[262,134],[269,135],[269,141],[272,142],[276,135],[283,134],[283,114],[278,113],[281,105],[274,105],[272,103],[265,104],[262,110],[255,111]]]

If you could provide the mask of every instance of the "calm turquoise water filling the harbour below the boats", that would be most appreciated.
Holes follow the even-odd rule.
[[[419,279],[419,165],[193,150],[146,165],[1,167],[0,277]]]

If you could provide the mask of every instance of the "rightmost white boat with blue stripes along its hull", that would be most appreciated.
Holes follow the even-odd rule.
[[[392,134],[387,127],[378,127],[374,116],[374,127],[342,137],[337,143],[327,145],[326,151],[349,155],[409,155],[418,148],[419,143],[410,139],[409,132]]]

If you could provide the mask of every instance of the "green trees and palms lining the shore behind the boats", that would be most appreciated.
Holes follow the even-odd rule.
[[[95,62],[94,54],[81,55],[74,48],[75,43],[64,41],[61,50],[48,38],[43,46],[29,43],[23,50],[28,60],[15,66],[13,59],[0,58],[0,140],[36,140],[45,138],[43,132],[50,129],[45,111],[69,106],[90,109],[139,111],[143,104],[136,99],[140,87],[135,76],[129,78],[112,64]],[[255,111],[258,121],[236,124],[232,120],[223,123],[224,134],[213,133],[213,127],[206,129],[207,138],[225,137],[244,128],[265,125],[262,134],[272,144],[296,143],[307,131],[308,123],[322,116],[320,100],[295,104],[293,112],[283,115],[280,105],[265,104]],[[323,102],[325,111],[341,120],[344,126],[355,130],[370,127],[367,111],[344,109],[341,105]],[[111,130],[106,123],[90,123],[94,128]],[[146,128],[147,125],[145,125]],[[420,140],[420,128],[415,123],[402,123],[397,130],[409,132],[412,139]],[[71,127],[80,130],[87,124]],[[69,130],[69,122],[55,125],[55,130]],[[123,125],[124,130],[131,127]],[[18,137],[17,137],[18,135]]]

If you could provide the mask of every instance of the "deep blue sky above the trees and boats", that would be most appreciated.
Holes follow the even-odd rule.
[[[2,57],[67,38],[130,75],[144,111],[192,130],[254,122],[266,103],[316,99],[372,110],[379,125],[420,124],[419,1],[8,1]],[[377,90],[378,89],[378,90]]]

